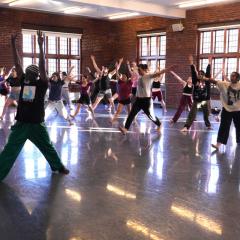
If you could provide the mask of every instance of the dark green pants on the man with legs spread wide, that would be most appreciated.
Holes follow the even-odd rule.
[[[53,147],[44,123],[32,124],[16,122],[11,128],[8,142],[0,154],[0,181],[12,168],[26,140],[34,143],[48,161],[52,171],[57,171],[63,164]]]

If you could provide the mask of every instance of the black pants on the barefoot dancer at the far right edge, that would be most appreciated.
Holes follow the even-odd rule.
[[[236,128],[236,141],[240,143],[240,111],[228,112],[225,108],[222,109],[217,142],[227,144],[232,121]]]

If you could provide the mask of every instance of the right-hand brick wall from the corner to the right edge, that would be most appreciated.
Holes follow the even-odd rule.
[[[179,65],[176,72],[184,79],[189,74],[188,56],[193,54],[197,58],[197,42],[199,25],[224,23],[240,20],[240,3],[219,5],[215,7],[201,8],[187,11],[183,32],[173,32],[171,25],[179,23],[179,20],[163,19],[159,17],[146,17],[134,20],[119,21],[115,29],[118,31],[118,42],[116,52],[129,60],[137,56],[137,32],[163,29],[167,34],[166,65]],[[166,76],[167,83],[167,105],[176,107],[181,97],[182,86],[174,80],[171,75]]]

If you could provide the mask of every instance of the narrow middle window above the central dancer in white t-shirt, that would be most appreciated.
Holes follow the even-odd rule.
[[[139,63],[148,64],[151,72],[157,68],[165,68],[166,62],[166,35],[165,33],[138,35]]]

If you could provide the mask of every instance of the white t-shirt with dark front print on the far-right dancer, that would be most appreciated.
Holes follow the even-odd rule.
[[[240,111],[240,82],[232,84],[227,81],[218,81],[217,87],[223,107],[228,112]]]

